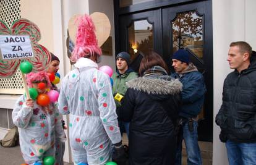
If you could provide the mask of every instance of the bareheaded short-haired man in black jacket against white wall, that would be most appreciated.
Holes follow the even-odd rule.
[[[231,43],[223,103],[216,116],[229,164],[256,164],[256,53],[244,41]]]

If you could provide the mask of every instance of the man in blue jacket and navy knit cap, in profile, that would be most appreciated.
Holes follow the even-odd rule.
[[[178,78],[182,85],[182,127],[177,140],[176,165],[181,165],[182,140],[184,139],[187,150],[187,164],[202,164],[200,148],[197,142],[197,115],[200,113],[205,95],[205,82],[203,75],[197,67],[189,61],[189,54],[184,49],[179,49],[173,55],[175,73],[171,76]]]

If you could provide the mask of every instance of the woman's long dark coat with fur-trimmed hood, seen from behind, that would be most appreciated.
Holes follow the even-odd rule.
[[[174,164],[182,83],[168,79],[140,77],[127,83],[120,117],[130,122],[131,165]]]

